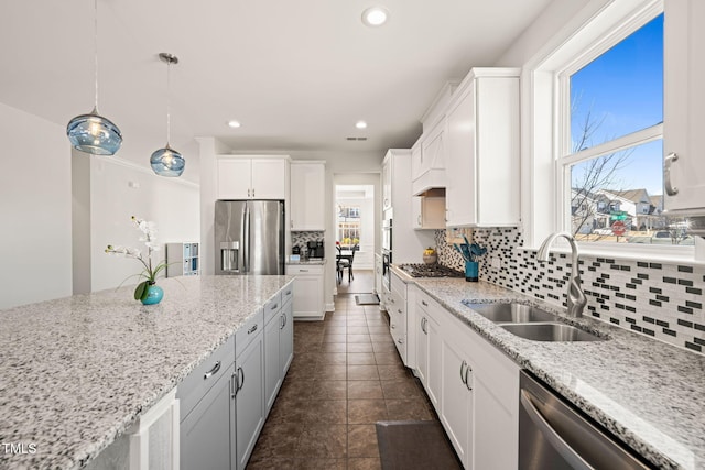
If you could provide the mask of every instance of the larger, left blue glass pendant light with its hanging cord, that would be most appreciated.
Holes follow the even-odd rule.
[[[76,116],[66,127],[66,135],[74,149],[93,155],[115,155],[122,144],[120,129],[109,119],[98,114],[98,0],[95,0],[94,42],[96,102],[93,111]]]

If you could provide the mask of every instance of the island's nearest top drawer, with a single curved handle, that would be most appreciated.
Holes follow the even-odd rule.
[[[181,401],[182,420],[234,363],[235,337],[230,337],[198,364],[176,389],[176,397]]]

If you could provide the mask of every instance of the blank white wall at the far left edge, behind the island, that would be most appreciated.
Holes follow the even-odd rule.
[[[0,103],[0,308],[72,294],[65,128]]]

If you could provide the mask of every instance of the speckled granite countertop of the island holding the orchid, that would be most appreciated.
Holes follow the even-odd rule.
[[[0,469],[79,468],[126,431],[293,276],[160,280],[0,311]]]

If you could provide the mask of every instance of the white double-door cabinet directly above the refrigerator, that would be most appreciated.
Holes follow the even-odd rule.
[[[218,199],[286,199],[288,163],[286,156],[218,156]]]

